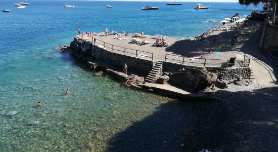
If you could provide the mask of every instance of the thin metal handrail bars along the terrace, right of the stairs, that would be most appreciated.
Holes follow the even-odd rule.
[[[179,59],[173,59],[173,58],[167,58],[167,56],[174,56],[174,57],[182,57],[182,60]],[[194,58],[194,57],[192,57]],[[190,59],[188,57],[183,57],[183,56],[178,56],[178,55],[172,55],[172,54],[165,54],[165,62],[167,60],[174,60],[174,61],[179,61],[182,64],[184,63],[194,63],[194,64],[203,64],[203,67],[206,67],[206,65],[243,65],[244,67],[248,67],[250,65],[250,58],[244,54],[244,59],[243,60],[235,60],[235,63],[229,63],[229,60],[223,60],[223,59],[207,59],[207,58],[194,58],[194,59],[202,59],[204,60],[204,62],[189,62],[189,61],[184,61],[184,59]],[[207,61],[225,61],[222,63],[208,63]],[[242,64],[240,64],[239,62],[242,62]]]

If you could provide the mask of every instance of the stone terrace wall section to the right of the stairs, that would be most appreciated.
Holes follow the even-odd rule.
[[[164,62],[163,64],[163,72],[176,73],[187,69],[191,70],[192,68],[207,70],[208,72],[215,73],[217,75],[217,79],[225,81],[233,81],[239,77],[242,79],[250,79],[251,76],[250,67],[196,67],[173,62]]]

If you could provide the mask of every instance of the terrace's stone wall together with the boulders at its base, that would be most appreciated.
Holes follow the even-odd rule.
[[[61,48],[69,49],[71,55],[87,63],[90,69],[99,71],[97,75],[108,72],[120,81],[125,81],[125,84],[138,88],[144,86],[144,78],[153,72],[152,69],[157,63],[111,52],[101,45],[78,37],[74,38],[69,47]],[[154,83],[168,83],[187,92],[200,92],[212,85],[225,89],[228,83],[248,80],[251,75],[250,67],[196,67],[167,61],[159,62],[163,65],[158,70]],[[122,72],[124,63],[128,65],[129,77]]]

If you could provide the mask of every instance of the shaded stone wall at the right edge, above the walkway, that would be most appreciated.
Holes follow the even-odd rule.
[[[278,49],[278,25],[266,25],[262,50],[268,52],[271,49]]]

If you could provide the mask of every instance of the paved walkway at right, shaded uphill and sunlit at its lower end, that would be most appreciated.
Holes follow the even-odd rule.
[[[259,49],[259,39],[263,28],[263,21],[247,21],[239,36],[234,49],[236,57],[243,59],[244,54],[250,57],[250,65],[255,82],[263,86],[275,86],[277,74],[274,73],[272,64]]]

